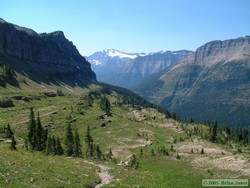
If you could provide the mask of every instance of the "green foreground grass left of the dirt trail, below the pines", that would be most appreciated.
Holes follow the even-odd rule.
[[[0,187],[84,187],[100,180],[97,168],[82,159],[8,147],[0,143]]]

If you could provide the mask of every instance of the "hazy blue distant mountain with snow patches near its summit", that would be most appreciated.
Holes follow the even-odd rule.
[[[129,54],[116,50],[104,50],[94,53],[87,59],[100,81],[132,89],[192,53],[192,51],[181,50]]]

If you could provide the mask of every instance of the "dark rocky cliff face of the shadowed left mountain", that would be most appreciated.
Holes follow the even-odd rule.
[[[76,47],[65,38],[63,32],[37,34],[31,29],[0,20],[0,55],[11,57],[30,65],[48,68],[50,74],[68,70],[71,77],[95,81],[90,63],[80,55]],[[65,74],[65,71],[64,71]],[[64,75],[62,74],[61,77]]]

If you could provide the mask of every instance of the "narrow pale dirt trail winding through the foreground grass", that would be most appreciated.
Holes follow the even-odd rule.
[[[91,161],[84,161],[84,162],[100,168],[97,174],[101,178],[101,183],[97,184],[95,188],[103,187],[104,185],[107,185],[113,181],[113,176],[111,176],[108,172],[108,170],[110,169],[108,166],[102,164],[95,164]]]

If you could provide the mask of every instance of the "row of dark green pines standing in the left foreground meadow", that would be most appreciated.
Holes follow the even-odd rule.
[[[48,130],[43,129],[39,113],[37,120],[35,120],[34,110],[30,109],[30,121],[28,126],[28,139],[26,148],[36,151],[43,151],[49,155],[63,155],[68,157],[83,157],[82,145],[77,129],[72,129],[69,124],[65,133],[64,149],[61,145],[60,139],[48,134]],[[89,159],[107,160],[112,159],[112,151],[108,154],[103,154],[99,145],[94,143],[90,135],[90,128],[87,127],[85,135],[86,152],[85,156]]]

